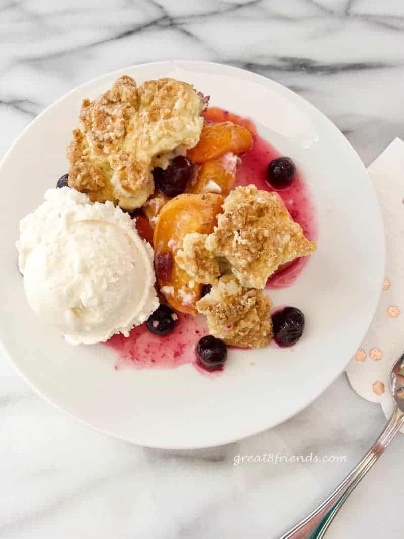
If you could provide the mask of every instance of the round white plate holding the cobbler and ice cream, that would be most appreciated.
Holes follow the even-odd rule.
[[[314,197],[318,250],[296,284],[271,292],[274,305],[301,308],[306,327],[292,348],[231,350],[221,376],[192,365],[114,370],[103,345],[72,347],[31,312],[17,269],[19,220],[67,170],[66,147],[83,98],[129,74],[141,83],[173,77],[211,96],[211,105],[252,118],[296,161]],[[48,107],[0,168],[0,337],[18,370],[61,409],[102,432],[154,447],[225,444],[302,410],[339,374],[372,320],[384,268],[379,204],[349,142],[307,101],[260,75],[200,61],[128,67],[88,82]]]

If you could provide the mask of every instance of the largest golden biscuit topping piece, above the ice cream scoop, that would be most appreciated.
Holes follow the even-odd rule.
[[[185,82],[165,78],[137,88],[123,75],[100,98],[83,100],[67,149],[69,186],[93,201],[139,208],[154,192],[151,170],[198,143],[204,106]]]

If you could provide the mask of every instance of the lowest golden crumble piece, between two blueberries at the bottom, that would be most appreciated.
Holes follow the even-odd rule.
[[[271,302],[261,290],[243,288],[234,275],[224,275],[197,302],[206,315],[210,335],[243,348],[266,346],[273,336]]]

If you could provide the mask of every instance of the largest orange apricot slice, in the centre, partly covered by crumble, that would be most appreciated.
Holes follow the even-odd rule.
[[[186,234],[210,234],[222,212],[220,195],[184,194],[164,204],[153,234],[155,269],[160,292],[170,305],[181,313],[197,314],[196,302],[201,298],[202,285],[175,261]]]

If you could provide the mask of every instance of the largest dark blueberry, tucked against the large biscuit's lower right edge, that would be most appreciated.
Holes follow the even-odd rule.
[[[181,195],[192,175],[192,165],[184,155],[174,157],[168,167],[155,168],[153,177],[156,186],[168,197]]]

